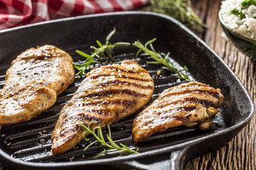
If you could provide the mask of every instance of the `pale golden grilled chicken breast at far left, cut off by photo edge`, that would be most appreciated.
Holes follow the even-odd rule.
[[[52,45],[30,48],[6,72],[0,91],[0,125],[30,120],[50,108],[75,79],[73,59]]]

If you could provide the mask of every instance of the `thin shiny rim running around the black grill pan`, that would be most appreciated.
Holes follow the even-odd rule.
[[[169,16],[165,16],[163,14],[159,14],[159,13],[154,13],[154,12],[144,12],[144,11],[122,11],[122,12],[111,12],[111,13],[99,13],[99,14],[90,14],[87,16],[75,16],[75,17],[70,17],[70,18],[61,18],[61,19],[56,19],[53,21],[43,21],[41,23],[33,23],[27,26],[19,26],[16,28],[9,28],[6,30],[0,30],[0,35],[4,34],[4,33],[9,33],[12,31],[16,31],[16,30],[21,30],[21,29],[26,29],[26,28],[31,28],[31,27],[37,27],[37,26],[44,26],[50,23],[58,23],[58,22],[65,22],[65,21],[72,21],[72,20],[77,20],[77,19],[86,19],[86,18],[97,18],[97,17],[102,17],[102,16],[121,16],[121,15],[146,15],[146,16],[156,16],[156,17],[160,17],[160,18],[164,18],[167,21],[171,21],[173,23],[176,23],[177,26],[181,27],[183,30],[186,31],[186,33],[190,34],[193,36],[193,38],[195,38],[196,40],[198,40],[198,42],[200,42],[204,47],[206,47],[206,49],[211,52],[215,57],[218,58],[218,62],[221,62],[226,69],[228,69],[228,71],[230,72],[230,74],[232,74],[233,78],[235,78],[235,80],[238,82],[238,84],[240,85],[240,87],[242,88],[242,91],[245,93],[245,96],[248,98],[248,100],[250,101],[250,114],[247,116],[247,118],[245,118],[245,120],[242,120],[240,123],[236,124],[236,125],[232,125],[229,128],[225,128],[223,130],[220,130],[219,132],[215,132],[213,134],[210,135],[206,135],[203,137],[198,137],[197,139],[188,141],[188,142],[183,142],[180,144],[176,144],[176,145],[172,145],[169,147],[164,147],[161,149],[154,149],[152,151],[146,151],[143,152],[141,154],[137,154],[137,155],[129,155],[129,156],[124,156],[124,157],[112,157],[112,158],[105,158],[105,159],[95,159],[95,160],[85,160],[85,161],[78,161],[78,162],[46,162],[46,163],[41,163],[41,162],[25,162],[22,161],[20,159],[16,159],[14,157],[11,157],[11,155],[7,154],[6,152],[4,152],[4,150],[2,150],[0,148],[0,157],[2,157],[3,159],[8,160],[9,162],[14,162],[15,164],[21,164],[23,166],[34,166],[34,167],[45,167],[45,168],[50,168],[50,167],[57,167],[57,166],[80,166],[80,165],[89,165],[89,164],[107,164],[109,162],[122,162],[122,161],[128,161],[128,160],[132,160],[132,159],[138,159],[138,158],[142,158],[142,157],[146,157],[152,154],[161,154],[164,152],[172,152],[178,149],[182,149],[182,148],[186,148],[186,147],[190,147],[191,145],[193,145],[194,143],[197,142],[202,142],[203,140],[210,140],[211,138],[214,137],[218,137],[220,135],[223,135],[225,133],[231,132],[235,129],[239,129],[239,128],[243,128],[245,125],[247,125],[247,123],[249,123],[249,121],[252,119],[252,116],[255,113],[255,106],[254,103],[252,101],[252,98],[250,97],[250,95],[248,94],[247,90],[245,89],[245,87],[242,85],[240,79],[238,79],[238,77],[236,77],[235,73],[230,69],[230,67],[228,67],[228,64],[226,64],[222,58],[220,58],[212,49],[210,49],[210,47],[208,45],[206,45],[206,42],[203,42],[203,40],[201,40],[201,38],[198,38],[197,35],[195,35],[191,30],[189,30],[188,28],[186,28],[186,26],[184,26],[182,23],[180,23],[179,21],[176,21],[176,19],[171,18]]]

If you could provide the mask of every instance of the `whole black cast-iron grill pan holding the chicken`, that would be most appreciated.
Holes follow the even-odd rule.
[[[60,110],[78,89],[82,79],[85,79],[76,77],[75,82],[58,96],[52,108],[26,123],[6,125],[1,129],[0,157],[5,169],[149,169],[149,166],[150,169],[157,169],[163,163],[165,169],[182,169],[189,159],[226,145],[252,118],[252,100],[227,64],[181,23],[173,18],[149,12],[79,16],[1,31],[0,88],[4,86],[4,74],[11,60],[27,48],[55,45],[78,62],[83,58],[75,50],[89,53],[90,45],[95,45],[95,40],[104,42],[105,36],[114,27],[117,28],[117,33],[112,42],[134,42],[137,39],[146,42],[157,38],[154,47],[161,52],[170,51],[174,64],[186,65],[193,79],[222,90],[225,99],[220,113],[213,120],[213,129],[201,132],[196,127],[178,127],[158,132],[139,143],[137,147],[141,154],[138,155],[117,157],[117,153],[113,153],[93,160],[90,158],[102,148],[95,145],[83,152],[87,142],[82,140],[74,149],[53,156],[50,151],[50,135]],[[146,64],[146,61],[151,60],[149,57],[136,58],[136,52],[137,49],[132,46],[119,48],[115,50],[114,58],[117,63],[126,59],[135,60],[151,74],[155,91],[147,105],[164,89],[183,82],[178,81],[171,72],[160,69],[160,66]],[[101,63],[106,64],[111,63]],[[156,71],[159,69],[161,74],[157,77]],[[115,142],[134,148],[132,123],[137,113],[110,126]]]

